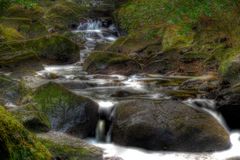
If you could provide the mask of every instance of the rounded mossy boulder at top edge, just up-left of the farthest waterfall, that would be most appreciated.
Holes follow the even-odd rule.
[[[51,6],[45,13],[45,20],[50,27],[62,31],[69,25],[79,23],[81,18],[86,18],[88,8],[73,1],[60,1]]]

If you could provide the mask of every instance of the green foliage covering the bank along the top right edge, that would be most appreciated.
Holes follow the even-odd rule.
[[[226,14],[225,11],[237,6],[237,0],[130,0],[117,10],[116,17],[128,31],[167,24],[182,25],[189,30],[204,16]]]

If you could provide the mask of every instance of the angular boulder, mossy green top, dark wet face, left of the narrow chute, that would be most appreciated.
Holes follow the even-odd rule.
[[[98,105],[89,98],[50,82],[34,92],[33,101],[48,116],[52,129],[82,138],[95,135]]]

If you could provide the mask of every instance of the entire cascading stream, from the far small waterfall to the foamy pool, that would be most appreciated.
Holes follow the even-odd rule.
[[[231,133],[232,147],[229,150],[215,153],[180,153],[180,152],[151,152],[139,148],[122,147],[111,143],[111,127],[106,131],[106,122],[103,117],[111,117],[113,106],[127,99],[171,99],[169,91],[181,92],[178,86],[163,85],[166,82],[181,81],[193,77],[163,76],[153,74],[123,75],[91,75],[83,70],[83,63],[98,44],[111,44],[117,40],[119,33],[114,24],[106,24],[101,19],[89,19],[79,24],[73,33],[85,40],[84,49],[80,51],[80,61],[72,65],[45,65],[44,70],[37,76],[46,78],[50,74],[58,76],[54,81],[63,84],[76,94],[83,95],[96,101],[99,106],[100,119],[96,128],[96,138],[87,139],[88,143],[104,150],[104,158],[118,157],[123,160],[181,160],[181,159],[213,159],[221,160],[240,156],[240,133]],[[199,93],[201,94],[201,93]],[[197,102],[197,103],[196,103]],[[224,120],[212,111],[215,106],[213,100],[188,99],[184,103],[189,107],[198,107],[212,114],[225,126]],[[212,108],[212,109],[211,109]],[[225,126],[226,127],[226,126]],[[107,132],[107,133],[106,133]]]

